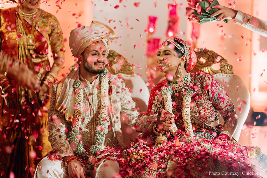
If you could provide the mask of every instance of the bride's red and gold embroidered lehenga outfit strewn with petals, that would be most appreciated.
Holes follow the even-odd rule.
[[[265,177],[267,156],[260,148],[216,138],[222,132],[218,114],[226,119],[227,114],[235,110],[224,87],[203,72],[188,73],[184,80],[190,81],[187,91],[193,91],[189,107],[192,136],[185,133],[183,104],[177,99],[177,95],[185,95],[185,88],[175,86],[178,81],[163,80],[151,91],[147,114],[166,110],[164,88],[173,89],[169,102],[176,116],[176,136],[165,132],[166,145],[154,147],[157,135],[150,131],[140,135],[127,149],[106,148],[100,154],[112,153],[105,156],[114,157],[119,163],[121,177]]]

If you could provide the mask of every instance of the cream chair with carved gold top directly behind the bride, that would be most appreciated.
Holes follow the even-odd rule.
[[[243,80],[238,75],[233,74],[233,66],[222,56],[221,59],[218,60],[218,56],[220,55],[214,51],[202,48],[197,48],[195,51],[198,61],[192,71],[210,73],[224,86],[236,107],[238,126],[233,134],[233,138],[238,141],[242,127],[250,110],[250,92]],[[222,117],[220,117],[219,121],[221,124],[224,124]]]

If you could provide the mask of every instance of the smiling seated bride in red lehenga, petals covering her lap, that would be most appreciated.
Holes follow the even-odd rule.
[[[162,45],[158,63],[166,79],[152,89],[148,106],[148,114],[158,113],[157,122],[128,149],[106,149],[119,163],[120,176],[263,176],[267,156],[232,139],[238,120],[223,86],[207,73],[190,72],[197,59],[186,41],[172,37]]]

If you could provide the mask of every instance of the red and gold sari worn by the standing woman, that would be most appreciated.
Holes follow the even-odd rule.
[[[20,19],[15,8],[1,9],[1,50],[22,61],[42,80],[48,72],[47,66],[50,66],[48,47],[55,55],[64,52],[61,27],[55,16],[42,10],[33,33],[36,49],[28,50],[25,48],[26,29],[22,23],[30,32],[32,26]],[[18,38],[19,34],[21,38]],[[15,177],[32,177],[38,162],[36,157],[42,158],[51,150],[46,130],[49,102],[41,107],[35,91],[24,89],[14,80],[10,83],[18,107],[8,107],[1,97],[0,170],[6,177],[11,171]]]

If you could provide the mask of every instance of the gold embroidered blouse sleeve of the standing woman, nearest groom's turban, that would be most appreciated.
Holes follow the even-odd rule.
[[[62,29],[55,16],[51,17],[51,33],[49,34],[52,53],[65,52]]]

